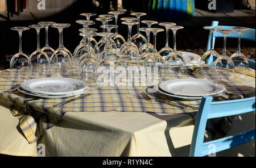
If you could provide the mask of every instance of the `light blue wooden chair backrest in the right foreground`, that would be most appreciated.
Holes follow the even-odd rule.
[[[212,102],[212,97],[204,96],[201,101],[199,111],[197,112],[189,156],[207,156],[209,147],[212,145],[214,145],[217,153],[254,140],[255,128],[246,132],[238,133],[234,136],[204,142],[205,127],[208,119],[239,115],[251,111],[255,111],[255,96],[252,98],[228,100],[222,102]]]

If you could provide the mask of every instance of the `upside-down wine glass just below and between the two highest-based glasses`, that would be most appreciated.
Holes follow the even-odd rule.
[[[139,24],[138,22],[122,22],[122,24],[126,24],[128,26],[128,39],[125,44],[122,45],[120,49],[121,55],[129,55],[132,60],[140,60],[139,49],[137,45],[131,42],[131,28],[135,24]]]

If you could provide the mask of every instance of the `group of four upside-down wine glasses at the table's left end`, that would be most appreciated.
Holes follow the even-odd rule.
[[[49,26],[59,30],[59,48],[56,50],[49,47],[48,28]],[[72,53],[64,47],[63,29],[70,24],[39,22],[28,27],[13,27],[11,30],[19,32],[19,52],[10,61],[10,71],[12,78],[39,78],[52,74],[67,74],[71,68]],[[37,49],[27,56],[22,51],[22,32],[34,28],[37,33]],[[40,48],[39,34],[42,28],[46,28],[46,46]]]

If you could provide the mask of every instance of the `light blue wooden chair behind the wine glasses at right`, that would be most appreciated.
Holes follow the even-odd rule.
[[[218,26],[218,22],[213,21],[212,26]],[[218,27],[221,27],[221,29],[230,30],[234,26],[218,26]],[[217,31],[214,31],[214,33],[213,33],[213,49],[214,49],[214,44],[215,44],[216,37],[222,37],[223,38],[223,34],[217,32]],[[238,32],[229,33],[227,37],[238,39]],[[242,32],[241,39],[255,41],[255,29],[250,28],[250,30]],[[208,38],[207,51],[209,49],[210,49],[210,36]],[[209,60],[212,60],[212,58],[210,58]],[[255,69],[255,61],[248,59],[248,62],[249,62],[249,68]],[[207,62],[207,64],[211,64],[211,62]]]

